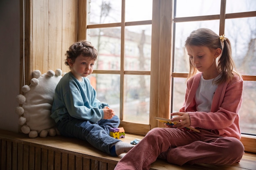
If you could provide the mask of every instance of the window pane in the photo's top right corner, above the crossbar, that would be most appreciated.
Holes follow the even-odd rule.
[[[226,13],[256,11],[255,0],[227,0]]]

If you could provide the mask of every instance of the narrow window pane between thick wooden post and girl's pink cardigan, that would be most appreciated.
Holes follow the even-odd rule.
[[[178,112],[183,106],[186,93],[186,78],[173,78],[173,110],[171,112]]]

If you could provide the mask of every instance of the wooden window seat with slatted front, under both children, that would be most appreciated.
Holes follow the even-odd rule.
[[[142,138],[126,134],[121,140],[130,143]],[[111,157],[79,139],[61,136],[31,139],[22,133],[0,130],[1,170],[113,170],[124,155]],[[231,166],[177,166],[157,160],[151,170],[256,170],[256,154],[246,152],[240,163]]]

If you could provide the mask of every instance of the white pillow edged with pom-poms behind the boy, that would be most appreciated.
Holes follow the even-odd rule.
[[[18,95],[17,100],[22,107],[16,108],[16,113],[21,115],[19,124],[22,125],[21,131],[34,138],[55,136],[57,132],[54,119],[50,117],[54,90],[62,78],[61,69],[55,72],[47,71],[41,75],[39,70],[33,72],[34,78],[31,84],[22,87],[24,95]]]

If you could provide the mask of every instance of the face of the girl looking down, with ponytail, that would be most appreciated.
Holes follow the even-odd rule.
[[[207,46],[186,47],[191,64],[203,75],[216,75],[218,73],[216,58],[221,49],[209,49]]]

